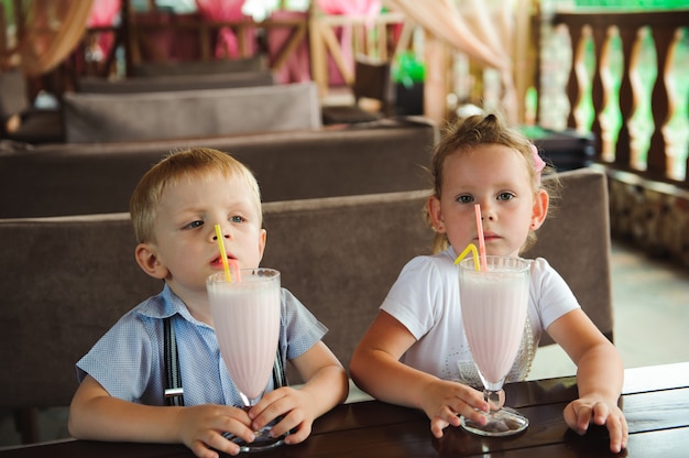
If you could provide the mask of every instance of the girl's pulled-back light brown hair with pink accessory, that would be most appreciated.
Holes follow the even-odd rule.
[[[560,182],[555,174],[555,167],[545,166],[542,171],[536,170],[534,154],[536,146],[517,128],[508,126],[500,116],[475,115],[463,120],[459,120],[453,126],[449,126],[444,132],[442,139],[436,144],[433,151],[433,162],[430,178],[433,193],[440,198],[442,189],[444,167],[446,160],[452,154],[463,154],[481,144],[501,144],[517,151],[526,161],[528,176],[531,178],[534,195],[538,189],[545,189],[553,203],[559,196]],[[546,181],[542,176],[551,175]],[[430,225],[430,218],[426,209],[426,219]],[[433,225],[430,225],[433,227]],[[522,247],[522,252],[528,250],[536,242],[536,233],[531,231],[526,242]],[[434,253],[444,251],[449,246],[445,233],[436,233],[433,250]]]

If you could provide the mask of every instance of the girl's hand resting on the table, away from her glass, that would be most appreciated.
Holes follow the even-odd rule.
[[[628,427],[624,414],[616,403],[600,396],[586,396],[570,402],[564,412],[567,426],[583,435],[591,423],[605,425],[610,435],[610,451],[620,452],[626,448]]]

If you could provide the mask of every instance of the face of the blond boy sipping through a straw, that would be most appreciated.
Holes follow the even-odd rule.
[[[216,173],[204,179],[182,177],[165,188],[155,242],[149,247],[157,263],[154,276],[165,279],[183,299],[185,292],[206,294],[208,275],[222,271],[215,225],[222,229],[229,259],[237,259],[240,268],[259,265],[265,230],[249,184]]]

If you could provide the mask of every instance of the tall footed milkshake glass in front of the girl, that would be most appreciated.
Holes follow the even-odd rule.
[[[462,416],[464,429],[481,436],[508,436],[526,429],[528,418],[502,406],[500,392],[520,350],[528,307],[531,261],[486,257],[477,271],[471,258],[459,263],[459,297],[469,349],[490,405],[488,424]]]

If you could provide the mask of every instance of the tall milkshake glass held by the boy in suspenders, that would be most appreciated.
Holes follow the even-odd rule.
[[[227,281],[225,272],[206,281],[220,353],[242,404],[249,410],[261,397],[271,378],[280,337],[280,272],[273,269],[242,269]],[[255,432],[252,443],[231,439],[242,451],[272,448],[282,438],[270,436],[267,425]]]

